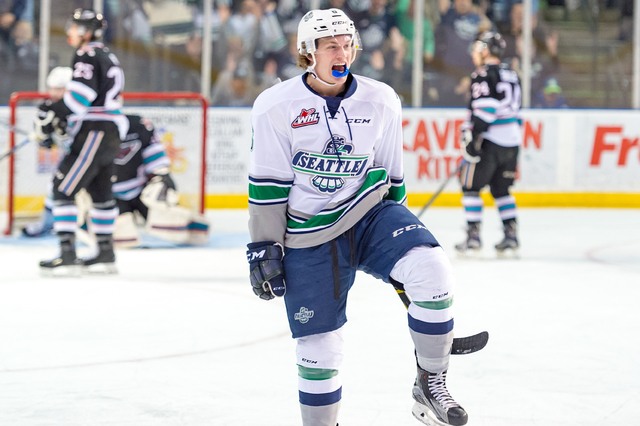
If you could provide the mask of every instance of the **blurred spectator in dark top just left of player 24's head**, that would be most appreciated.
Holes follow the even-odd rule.
[[[492,27],[472,0],[452,0],[435,32],[433,69],[438,74],[438,105],[466,105],[469,74],[474,69],[469,49],[477,34]]]

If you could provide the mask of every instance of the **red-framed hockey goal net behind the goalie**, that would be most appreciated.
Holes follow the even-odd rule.
[[[171,159],[171,173],[180,205],[204,212],[207,170],[207,100],[191,92],[125,92],[124,112],[149,118]],[[8,126],[0,131],[0,229],[11,235],[42,213],[60,149],[45,149],[26,142],[37,106],[46,93],[15,92],[9,102]]]

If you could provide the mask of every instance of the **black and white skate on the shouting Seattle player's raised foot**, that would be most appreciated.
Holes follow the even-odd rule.
[[[429,426],[467,424],[467,412],[449,395],[446,381],[446,371],[430,373],[418,367],[411,410],[416,419]]]

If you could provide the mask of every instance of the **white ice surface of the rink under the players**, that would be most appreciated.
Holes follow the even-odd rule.
[[[42,278],[56,240],[0,237],[0,425],[299,425],[281,300],[250,290],[245,210],[215,211],[199,248],[119,250],[117,276]],[[456,273],[451,359],[471,426],[640,424],[640,211],[521,209],[521,258],[459,259],[460,209],[425,224]],[[80,251],[82,254],[82,251]],[[418,425],[406,311],[361,274],[350,294],[341,426]]]

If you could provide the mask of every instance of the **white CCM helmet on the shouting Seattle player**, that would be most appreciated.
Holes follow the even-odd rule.
[[[316,40],[348,34],[354,50],[362,50],[360,36],[353,21],[340,9],[310,10],[298,24],[298,53],[306,55],[316,51]]]

